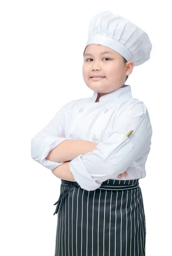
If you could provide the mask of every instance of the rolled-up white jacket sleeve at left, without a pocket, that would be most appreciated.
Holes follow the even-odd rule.
[[[45,159],[49,151],[57,147],[66,138],[58,137],[65,134],[66,108],[69,103],[62,106],[55,114],[54,118],[31,140],[31,156],[32,159],[42,164],[44,167],[53,170],[64,162],[53,162]]]

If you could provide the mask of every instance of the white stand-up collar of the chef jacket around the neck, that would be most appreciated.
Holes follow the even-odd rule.
[[[95,102],[97,99],[97,92],[93,92],[91,102]],[[107,101],[115,101],[124,98],[132,97],[131,86],[128,84],[124,84],[124,87],[118,88],[110,93],[106,93],[105,95],[101,96],[99,102],[107,102]]]

